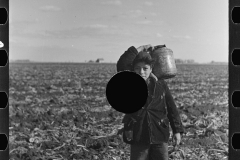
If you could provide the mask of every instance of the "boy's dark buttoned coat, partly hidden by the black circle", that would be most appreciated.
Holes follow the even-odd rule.
[[[149,96],[142,109],[126,114],[122,120],[124,126],[134,118],[133,140],[135,143],[159,144],[168,142],[169,122],[173,133],[183,133],[184,128],[174,99],[164,80],[156,81],[149,77]]]

